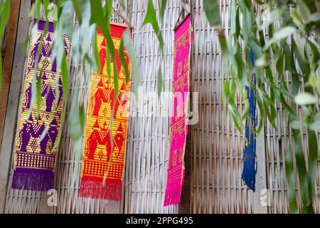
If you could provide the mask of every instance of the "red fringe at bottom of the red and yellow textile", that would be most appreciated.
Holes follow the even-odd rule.
[[[122,182],[102,182],[82,180],[80,184],[79,197],[92,199],[110,199],[121,201],[122,198]]]

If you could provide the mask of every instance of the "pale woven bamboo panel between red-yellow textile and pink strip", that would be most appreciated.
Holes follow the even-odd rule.
[[[156,91],[157,72],[161,61],[159,42],[151,26],[144,26],[147,0],[132,2],[134,46],[137,51],[142,96]],[[156,1],[154,5],[157,7]],[[181,1],[169,0],[164,16],[164,60],[161,63],[165,90],[171,90],[173,66],[173,28]],[[133,88],[133,87],[132,87]],[[147,101],[144,101],[144,105]],[[161,105],[165,105],[162,103]],[[139,113],[142,114],[142,113]],[[166,112],[169,114],[169,110]],[[169,118],[150,116],[129,119],[125,173],[124,212],[175,213],[178,207],[163,207],[169,153]]]

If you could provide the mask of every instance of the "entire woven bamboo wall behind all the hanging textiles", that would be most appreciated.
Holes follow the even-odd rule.
[[[162,31],[165,42],[164,60],[158,48],[158,41],[150,26],[141,29],[146,14],[147,0],[127,0],[129,20],[134,27],[134,46],[137,51],[142,98],[149,91],[156,90],[157,69],[161,63],[165,90],[171,90],[172,43],[174,23],[178,19],[181,1],[169,0]],[[118,1],[114,4],[118,7]],[[156,5],[156,1],[154,1]],[[242,135],[235,130],[229,114],[223,111],[222,60],[216,32],[210,28],[203,15],[202,0],[192,0],[193,15],[193,73],[192,90],[199,93],[199,122],[191,126],[191,212],[193,213],[287,213],[287,182],[284,175],[284,155],[287,143],[293,141],[287,129],[284,110],[277,103],[279,119],[276,132],[265,121],[265,128],[257,138],[257,192],[248,191],[241,180]],[[228,32],[228,0],[220,0],[220,11],[225,31]],[[16,46],[23,46],[26,34],[31,32],[28,11],[31,1],[21,1]],[[114,22],[122,23],[115,14]],[[4,142],[0,153],[0,177],[6,170],[6,158],[11,160],[12,145],[16,132],[18,100],[24,76],[26,55],[22,48],[16,48],[14,70],[4,128]],[[70,66],[70,95],[73,93],[75,66]],[[287,85],[291,82],[287,78]],[[87,103],[87,88],[80,83],[80,99]],[[132,90],[134,90],[132,88]],[[70,108],[70,99],[68,109]],[[148,100],[144,100],[147,103]],[[237,97],[241,107],[240,96]],[[301,113],[301,108],[299,108]],[[168,111],[169,112],[169,111]],[[136,113],[137,114],[137,113]],[[140,113],[141,114],[141,113]],[[224,123],[224,115],[225,123]],[[73,143],[67,133],[68,123],[63,128],[63,140],[58,154],[55,187],[58,191],[58,206],[48,207],[46,192],[11,190],[12,169],[9,169],[9,183],[5,197],[6,213],[176,213],[178,207],[162,207],[166,186],[166,165],[168,153],[169,118],[129,118],[127,161],[124,175],[124,201],[116,203],[107,200],[78,198],[79,178],[75,190],[70,192],[70,181],[75,164]],[[304,148],[307,147],[304,135]],[[320,165],[316,172],[316,192],[320,190]],[[6,178],[6,177],[5,177]],[[3,184],[0,179],[0,191]],[[5,184],[6,185],[6,184]],[[297,185],[297,183],[296,183]],[[261,192],[268,190],[267,194]],[[261,194],[262,193],[262,194]],[[0,192],[1,194],[1,192]],[[268,196],[268,207],[263,207],[260,197]],[[299,199],[300,200],[300,199]],[[1,203],[1,195],[0,195]],[[316,212],[320,212],[319,199],[315,200]],[[1,207],[1,204],[0,204]]]

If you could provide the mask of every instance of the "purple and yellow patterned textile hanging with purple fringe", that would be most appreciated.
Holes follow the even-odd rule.
[[[61,122],[63,88],[55,61],[51,63],[53,24],[48,23],[48,33],[41,40],[46,21],[38,21],[36,37],[31,38],[23,86],[21,107],[14,152],[14,177],[11,187],[18,190],[47,191],[53,188],[55,155]],[[65,40],[65,54],[69,53],[69,41]],[[36,71],[36,75],[34,74]],[[35,76],[36,80],[33,80]],[[38,113],[37,99],[33,98],[36,81],[41,80],[41,108]],[[34,102],[33,102],[34,100]]]

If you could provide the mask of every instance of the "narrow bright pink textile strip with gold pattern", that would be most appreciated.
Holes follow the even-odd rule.
[[[169,128],[169,165],[164,206],[179,204],[184,178],[184,152],[188,134],[188,95],[190,89],[191,15],[174,32],[174,94]]]

